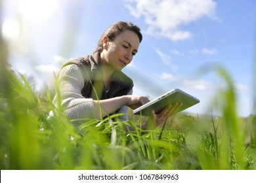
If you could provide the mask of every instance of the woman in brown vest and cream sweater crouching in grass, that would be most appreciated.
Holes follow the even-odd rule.
[[[148,97],[132,94],[133,81],[121,72],[131,63],[139,50],[142,35],[139,27],[129,22],[116,22],[104,31],[98,48],[91,56],[78,58],[64,65],[58,75],[60,101],[70,119],[98,118],[109,114],[123,114],[127,110],[148,103]],[[54,97],[54,104],[58,101]],[[177,104],[164,108],[160,114],[152,111],[156,126],[173,116],[179,109]],[[142,125],[143,129],[147,125]]]

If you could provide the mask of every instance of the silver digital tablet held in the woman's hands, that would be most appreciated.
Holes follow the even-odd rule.
[[[136,108],[133,110],[133,114],[150,116],[152,110],[158,114],[163,108],[167,107],[167,105],[175,105],[175,103],[182,103],[182,107],[179,108],[178,111],[181,112],[186,108],[200,103],[200,100],[186,92],[183,92],[182,90],[175,89],[161,95],[160,97],[157,97],[156,99],[142,105],[139,108]]]

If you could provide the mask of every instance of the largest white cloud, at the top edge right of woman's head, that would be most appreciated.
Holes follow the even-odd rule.
[[[144,17],[148,33],[167,37],[171,41],[189,39],[191,33],[181,26],[203,16],[215,18],[213,0],[126,0],[126,6],[137,18]]]

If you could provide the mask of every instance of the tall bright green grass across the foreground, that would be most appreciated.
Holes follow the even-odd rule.
[[[39,96],[24,76],[1,69],[1,169],[256,169],[255,119],[244,124],[238,117],[234,86],[221,68],[221,117],[181,113],[150,131],[136,127],[142,119],[133,116],[75,127],[53,107],[49,90]],[[128,124],[135,131],[125,131]]]

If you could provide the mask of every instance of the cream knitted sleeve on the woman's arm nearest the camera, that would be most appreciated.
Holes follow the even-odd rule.
[[[83,97],[81,94],[83,86],[84,79],[77,65],[67,65],[60,70],[58,75],[60,96],[56,94],[53,103],[55,106],[58,105],[60,99],[64,113],[70,120],[95,118],[93,99]]]

